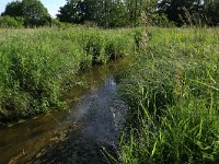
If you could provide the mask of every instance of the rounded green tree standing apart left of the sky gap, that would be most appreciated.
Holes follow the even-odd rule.
[[[49,25],[51,17],[39,0],[22,0],[8,3],[2,15],[24,17],[25,26]]]

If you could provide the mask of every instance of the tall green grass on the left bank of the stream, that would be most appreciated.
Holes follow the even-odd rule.
[[[135,30],[0,30],[0,121],[58,108],[80,69],[135,54]]]

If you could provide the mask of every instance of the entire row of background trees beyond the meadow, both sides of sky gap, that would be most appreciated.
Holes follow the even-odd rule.
[[[218,25],[219,0],[67,0],[59,8],[56,22],[91,23],[106,28],[137,26],[142,23],[142,14],[150,25]],[[50,25],[55,21],[39,0],[10,2],[3,16],[24,26]]]

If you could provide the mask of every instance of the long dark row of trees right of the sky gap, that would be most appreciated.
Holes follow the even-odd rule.
[[[218,0],[67,0],[57,16],[62,22],[89,21],[104,27],[137,26],[142,13],[151,25],[192,25],[204,17],[217,25],[218,9]]]

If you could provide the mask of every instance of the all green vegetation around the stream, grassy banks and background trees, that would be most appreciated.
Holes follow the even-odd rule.
[[[0,122],[60,108],[80,69],[138,49],[120,83],[130,108],[118,156],[111,159],[217,163],[219,28],[204,27],[219,24],[218,7],[218,0],[67,0],[51,19],[39,0],[8,3],[0,27],[56,27],[0,28]],[[142,28],[72,23],[160,27],[146,35]]]

